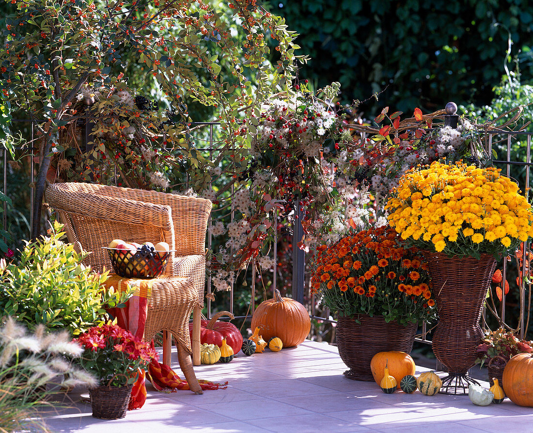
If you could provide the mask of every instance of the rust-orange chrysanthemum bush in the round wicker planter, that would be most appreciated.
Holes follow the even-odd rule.
[[[398,234],[382,226],[346,236],[318,248],[312,292],[345,317],[383,316],[400,324],[422,323],[435,316],[427,264]]]

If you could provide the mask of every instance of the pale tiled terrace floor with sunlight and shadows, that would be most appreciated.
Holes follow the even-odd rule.
[[[305,341],[277,353],[239,354],[229,364],[196,367],[199,379],[229,381],[227,389],[165,394],[149,384],[146,404],[122,420],[98,420],[90,405],[70,403],[46,413],[46,423],[56,432],[91,433],[533,432],[533,408],[508,399],[479,407],[468,396],[384,394],[374,382],[346,379],[346,369],[335,347]],[[74,402],[79,391],[69,394]]]

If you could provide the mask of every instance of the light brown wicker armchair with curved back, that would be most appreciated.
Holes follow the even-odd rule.
[[[102,249],[112,239],[165,241],[175,251],[168,259],[165,275],[156,278],[152,286],[144,336],[148,340],[164,331],[163,363],[169,365],[169,333],[172,333],[185,379],[191,390],[200,390],[190,354],[193,363],[199,365],[205,235],[211,202],[157,191],[75,182],[50,185],[46,201],[59,212],[67,237],[76,250],[91,252],[84,263],[96,271],[104,267],[112,269],[109,255]],[[176,311],[182,317],[175,317]],[[188,330],[191,311],[192,350]]]

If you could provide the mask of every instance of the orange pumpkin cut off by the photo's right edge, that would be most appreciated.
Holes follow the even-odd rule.
[[[503,390],[514,404],[533,407],[533,355],[518,354],[507,361]]]

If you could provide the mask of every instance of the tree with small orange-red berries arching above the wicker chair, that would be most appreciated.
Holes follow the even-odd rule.
[[[298,46],[285,21],[258,8],[255,0],[235,0],[222,7],[192,0],[154,5],[28,0],[18,3],[17,12],[6,18],[3,36],[0,97],[26,118],[47,119],[37,125],[37,138],[43,143],[39,143],[35,221],[41,219],[47,175],[55,181],[53,173],[62,170],[67,178],[63,180],[107,183],[116,180],[117,171],[127,186],[164,188],[169,178],[178,177],[176,171],[181,173],[183,158],[191,177],[201,178],[195,182],[201,189],[207,162],[188,140],[190,118],[184,101],[212,110],[221,123],[222,157],[231,154],[235,161],[243,157],[245,143],[253,136],[243,126],[246,119],[259,113],[268,95],[292,82],[296,61],[304,60],[295,54]],[[266,61],[268,37],[279,51],[276,68]],[[128,65],[135,66],[128,69]],[[139,70],[140,77],[129,83],[124,72]],[[174,111],[144,109],[134,103],[139,89],[132,85],[144,83],[146,91],[164,98]],[[84,154],[76,126],[87,116],[96,126],[93,149]],[[144,166],[142,153],[156,144],[152,142],[161,133],[173,155],[165,155],[168,159],[160,161],[160,170],[154,172],[150,164]],[[72,164],[66,159],[69,154],[79,157],[76,171],[65,170]],[[37,237],[36,227],[32,238]]]

